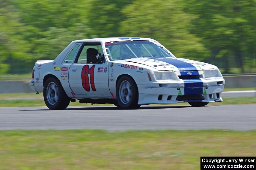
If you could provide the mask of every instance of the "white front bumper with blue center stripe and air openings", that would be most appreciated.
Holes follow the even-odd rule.
[[[183,103],[183,102],[221,102],[225,80],[202,79],[201,86],[198,82],[184,85],[185,81],[176,82],[151,82],[139,88],[139,105]]]

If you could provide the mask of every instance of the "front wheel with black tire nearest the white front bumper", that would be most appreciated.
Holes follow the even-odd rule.
[[[130,76],[122,76],[117,82],[117,104],[123,109],[137,109],[139,91],[136,82]]]

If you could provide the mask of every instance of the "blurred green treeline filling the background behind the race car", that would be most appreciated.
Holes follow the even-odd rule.
[[[256,73],[256,0],[0,0],[1,75],[97,37],[150,37],[178,58]]]

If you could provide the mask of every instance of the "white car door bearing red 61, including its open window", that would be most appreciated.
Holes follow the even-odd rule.
[[[69,69],[69,85],[76,97],[111,96],[108,87],[108,63],[96,59],[101,43],[85,42]]]

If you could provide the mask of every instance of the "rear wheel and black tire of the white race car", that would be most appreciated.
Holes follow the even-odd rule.
[[[51,110],[66,109],[70,103],[70,98],[64,91],[61,82],[56,78],[49,78],[44,85],[44,101]]]

